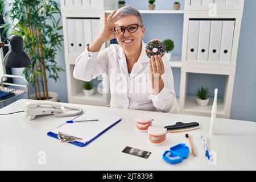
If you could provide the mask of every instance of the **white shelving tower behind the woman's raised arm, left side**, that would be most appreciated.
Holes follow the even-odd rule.
[[[98,27],[100,30],[103,24],[104,18],[104,10],[117,9],[117,1],[112,0],[61,0],[61,16],[63,21],[63,36],[64,36],[64,49],[65,49],[65,64],[66,64],[66,73],[67,73],[67,86],[68,86],[68,102],[76,103],[76,104],[86,104],[86,105],[97,105],[97,106],[109,106],[110,102],[110,94],[108,90],[105,90],[108,87],[104,85],[108,84],[108,80],[105,76],[102,76],[101,81],[101,90],[105,90],[104,93],[99,93],[97,88],[94,88],[93,96],[86,97],[82,92],[82,81],[76,80],[73,77],[73,70],[75,68],[75,60],[82,53],[82,51],[74,51],[71,49],[71,44],[76,48],[80,46],[82,50],[85,48],[90,42],[86,42],[86,40],[78,40],[76,39],[76,31],[72,31],[70,26],[68,27],[68,20],[85,20],[90,19],[94,20],[94,24],[92,23],[92,36],[90,39],[93,39],[95,35],[93,35],[93,25]],[[85,27],[83,27],[85,28]],[[69,34],[68,31],[71,31]],[[79,30],[79,31],[83,31]],[[82,32],[83,34],[83,32]],[[73,35],[73,36],[71,36]],[[81,38],[82,39],[82,38]],[[80,41],[80,43],[79,43]],[[82,48],[81,48],[82,47]],[[106,46],[102,46],[104,49]]]

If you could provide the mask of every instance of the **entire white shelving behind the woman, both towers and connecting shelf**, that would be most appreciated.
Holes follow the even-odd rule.
[[[65,63],[67,70],[68,84],[68,101],[77,104],[89,104],[109,106],[110,94],[96,93],[92,97],[85,97],[82,94],[82,81],[73,78],[73,69],[75,60],[80,53],[69,53],[68,41],[68,18],[98,18],[100,26],[102,26],[104,12],[111,13],[114,9],[118,9],[117,0],[61,0],[61,14],[63,18],[63,34],[65,48]],[[206,3],[207,2],[207,3]],[[214,3],[209,5],[209,3]],[[210,11],[215,13],[209,15]],[[196,104],[196,97],[187,96],[188,73],[202,73],[212,75],[225,75],[225,93],[224,98],[218,98],[217,101],[217,117],[229,118],[230,107],[232,103],[232,93],[234,76],[236,73],[236,59],[238,50],[238,41],[240,37],[241,19],[243,13],[243,0],[185,0],[184,10],[139,10],[142,14],[183,14],[183,42],[181,56],[172,56],[170,64],[173,68],[181,68],[180,76],[180,97],[177,99],[179,105],[179,113],[210,116],[212,109],[212,98],[209,105],[199,107]],[[219,61],[210,63],[205,61],[189,61],[187,60],[188,51],[188,31],[189,20],[191,19],[233,19],[235,20],[232,55],[230,62],[220,63]],[[102,46],[102,49],[109,46],[109,43]],[[102,79],[103,89],[107,85],[106,79]]]

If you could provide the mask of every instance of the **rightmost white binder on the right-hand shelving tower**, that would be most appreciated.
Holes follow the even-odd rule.
[[[235,21],[224,21],[221,38],[220,62],[230,63]]]

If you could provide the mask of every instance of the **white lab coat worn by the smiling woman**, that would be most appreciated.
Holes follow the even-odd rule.
[[[168,112],[176,102],[171,65],[164,55],[164,88],[158,95],[152,95],[151,81],[147,76],[150,73],[150,59],[144,51],[145,46],[142,41],[141,55],[130,74],[125,53],[118,44],[111,44],[98,52],[90,52],[86,48],[76,59],[73,76],[79,80],[90,81],[102,73],[107,73],[111,94],[110,107]]]

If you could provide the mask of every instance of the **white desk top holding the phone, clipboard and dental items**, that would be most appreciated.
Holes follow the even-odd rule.
[[[209,136],[210,118],[191,115],[156,113],[150,111],[115,109],[109,107],[63,104],[94,109],[119,115],[122,121],[86,147],[60,143],[47,136],[48,131],[60,126],[68,118],[53,115],[28,121],[23,113],[0,115],[0,169],[22,170],[256,170],[256,123],[217,119],[216,134]],[[18,101],[0,110],[9,113],[21,110]],[[177,121],[199,122],[201,129],[190,131],[197,156],[189,152],[179,164],[162,159],[164,151],[178,143],[188,143],[185,133],[167,134],[166,143],[152,146],[147,133],[136,130],[135,117],[151,115],[153,126],[173,125]],[[207,137],[208,149],[216,151],[217,164],[207,163],[200,136]],[[126,146],[152,152],[148,159],[122,153]],[[189,146],[190,147],[190,146]],[[46,152],[46,164],[39,165],[39,151]]]

